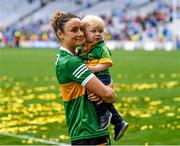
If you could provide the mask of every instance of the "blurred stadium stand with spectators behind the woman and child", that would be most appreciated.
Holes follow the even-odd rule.
[[[180,48],[179,0],[1,0],[0,47],[57,48],[50,19],[59,9],[101,16],[112,49]]]

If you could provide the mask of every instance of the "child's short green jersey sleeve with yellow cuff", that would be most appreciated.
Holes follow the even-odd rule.
[[[98,49],[99,51],[99,63],[111,63],[112,64],[112,60],[111,60],[111,52],[109,51],[109,49],[107,47],[102,47]]]

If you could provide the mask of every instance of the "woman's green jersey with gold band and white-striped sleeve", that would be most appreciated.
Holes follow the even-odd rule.
[[[62,93],[66,122],[71,140],[108,135],[100,130],[95,109],[86,97],[85,85],[95,75],[82,59],[61,47],[57,54],[56,75]]]

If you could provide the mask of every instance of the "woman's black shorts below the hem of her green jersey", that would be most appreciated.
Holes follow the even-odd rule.
[[[75,140],[71,142],[72,145],[98,145],[103,143],[110,145],[110,138],[108,135],[91,139]]]

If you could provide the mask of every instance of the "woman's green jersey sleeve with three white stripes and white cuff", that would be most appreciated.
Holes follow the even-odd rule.
[[[67,70],[68,77],[82,86],[85,86],[95,76],[77,56],[73,56],[68,61]]]

